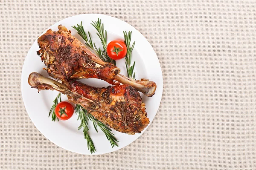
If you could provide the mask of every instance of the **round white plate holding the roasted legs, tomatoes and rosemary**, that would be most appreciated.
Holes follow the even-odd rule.
[[[102,14],[82,14],[69,17],[55,23],[48,29],[57,31],[57,26],[62,24],[63,26],[66,26],[67,29],[71,30],[73,36],[81,40],[81,42],[84,42],[84,40],[82,40],[82,38],[77,34],[76,30],[71,27],[77,23],[80,24],[82,21],[85,31],[89,31],[92,34],[93,41],[97,46],[100,46],[101,43],[99,37],[96,35],[96,30],[90,24],[92,20],[96,21],[98,18],[102,20],[102,23],[104,23],[104,27],[108,32],[108,42],[114,39],[123,40],[123,31],[132,31],[131,42],[136,42],[132,52],[132,63],[133,61],[136,61],[136,78],[147,78],[156,82],[157,84],[157,90],[153,97],[146,97],[145,95],[141,94],[143,102],[146,104],[146,112],[148,113],[148,118],[151,123],[157,113],[162,98],[163,76],[160,63],[154,49],[139,31],[122,20]],[[80,125],[80,121],[77,121],[76,114],[74,114],[67,121],[54,122],[51,121],[51,118],[48,118],[49,110],[53,104],[52,101],[55,99],[58,92],[43,90],[40,92],[40,94],[38,94],[37,89],[32,89],[29,86],[27,80],[31,72],[38,72],[46,77],[49,77],[47,72],[42,69],[45,67],[45,65],[43,62],[41,62],[41,59],[36,54],[36,51],[38,50],[39,48],[37,45],[37,40],[35,40],[35,43],[33,43],[26,56],[21,75],[22,97],[29,117],[38,130],[54,144],[72,152],[91,155],[90,151],[87,149],[87,142],[86,139],[84,139],[82,130],[77,130],[77,127]],[[124,58],[117,61],[116,65],[121,69],[121,73],[123,75],[127,75]],[[106,87],[109,85],[105,81],[100,81],[98,79],[84,79],[82,82],[98,87]],[[64,95],[61,95],[61,98],[62,101],[67,100],[67,97]],[[100,130],[99,133],[96,133],[92,124],[89,124],[89,128],[90,136],[97,150],[96,153],[93,153],[93,155],[110,153],[115,150],[119,150],[122,147],[131,144],[131,142],[136,140],[146,130],[145,128],[142,133],[137,133],[135,135],[127,135],[125,133],[119,133],[113,130],[113,133],[116,135],[116,138],[119,141],[119,147],[112,148],[104,133],[102,133]]]

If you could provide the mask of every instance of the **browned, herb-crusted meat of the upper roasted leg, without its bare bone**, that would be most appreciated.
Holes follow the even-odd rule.
[[[91,52],[64,26],[58,26],[58,31],[49,29],[38,38],[41,60],[47,66],[46,70],[52,78],[61,81],[77,78],[98,78],[112,85],[119,85],[115,75],[120,70],[111,63],[104,66],[93,62]]]

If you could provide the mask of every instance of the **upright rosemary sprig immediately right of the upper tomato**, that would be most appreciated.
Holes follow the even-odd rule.
[[[134,49],[135,41],[132,44],[132,46],[130,47],[131,32],[129,31],[127,33],[126,31],[124,31],[123,33],[124,33],[124,37],[125,37],[125,45],[127,47],[127,54],[125,55],[125,66],[126,66],[128,77],[134,79],[135,73],[133,73],[133,71],[134,71],[135,61],[134,61],[134,64],[131,66],[131,52]]]

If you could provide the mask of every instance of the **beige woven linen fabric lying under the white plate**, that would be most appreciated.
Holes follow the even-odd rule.
[[[134,26],[163,70],[163,98],[148,130],[100,156],[45,138],[20,90],[36,38],[86,13]],[[0,0],[0,169],[256,170],[256,1]]]

